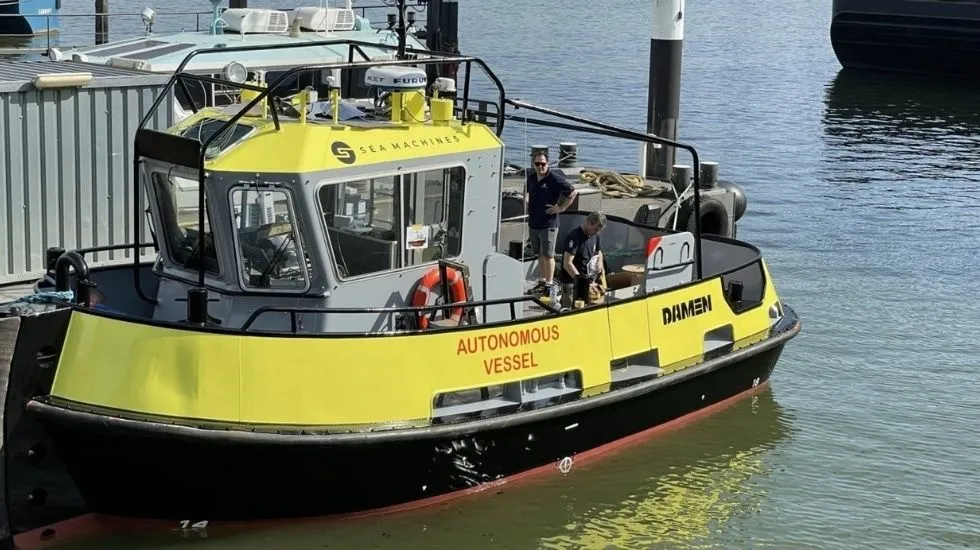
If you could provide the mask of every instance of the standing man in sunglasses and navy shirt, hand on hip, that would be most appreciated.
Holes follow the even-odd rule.
[[[527,204],[527,223],[531,234],[531,250],[538,256],[541,280],[531,289],[532,293],[548,293],[554,301],[555,245],[558,240],[558,214],[564,212],[575,200],[575,188],[565,179],[561,170],[548,169],[548,154],[534,155],[534,171],[528,173],[524,185],[524,201]]]

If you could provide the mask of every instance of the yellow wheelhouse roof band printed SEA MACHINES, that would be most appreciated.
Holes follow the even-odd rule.
[[[220,110],[202,110],[175,125],[171,132],[189,130],[185,137],[197,137],[191,128],[199,122],[230,118]],[[333,126],[329,122],[302,124],[280,118],[279,131],[271,118],[243,117],[239,124],[255,130],[211,159],[208,170],[308,173],[502,146],[491,129],[477,123],[433,126],[353,121]],[[218,146],[219,141],[212,142],[211,147]]]

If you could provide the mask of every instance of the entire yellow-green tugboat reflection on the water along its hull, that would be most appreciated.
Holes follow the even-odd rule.
[[[379,518],[235,531],[103,536],[66,548],[645,548],[725,538],[766,501],[771,450],[792,418],[770,390],[567,475]],[[394,457],[393,457],[394,459]],[[261,482],[256,480],[255,482]],[[370,480],[365,480],[370,483]],[[201,546],[203,545],[203,546]]]

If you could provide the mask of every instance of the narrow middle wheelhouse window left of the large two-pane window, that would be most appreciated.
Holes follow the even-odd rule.
[[[242,285],[305,290],[309,267],[289,195],[281,189],[238,188],[231,201]]]

